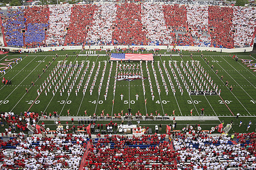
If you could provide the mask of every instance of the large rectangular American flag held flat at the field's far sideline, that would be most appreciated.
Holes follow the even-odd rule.
[[[112,53],[110,60],[154,60],[153,54],[117,54],[117,53]]]

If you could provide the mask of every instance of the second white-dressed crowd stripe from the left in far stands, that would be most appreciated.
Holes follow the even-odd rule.
[[[86,37],[86,44],[111,45],[113,27],[115,28],[116,10],[116,5],[112,3],[97,5],[91,30]]]

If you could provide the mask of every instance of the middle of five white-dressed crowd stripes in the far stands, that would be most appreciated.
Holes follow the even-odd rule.
[[[146,44],[168,45],[172,43],[171,31],[165,25],[164,13],[160,4],[141,4],[141,21],[146,27]]]

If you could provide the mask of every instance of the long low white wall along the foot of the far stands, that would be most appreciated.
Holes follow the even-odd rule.
[[[144,48],[144,49],[172,49],[173,46],[84,46],[84,49],[91,49],[91,50],[105,50],[105,49],[115,49],[115,48]],[[2,47],[4,49],[19,49],[21,52],[35,52],[35,50],[38,52],[39,48],[15,48],[15,47]],[[82,49],[83,46],[59,46],[59,47],[42,47],[41,50],[44,51],[54,51],[54,50],[79,50]],[[227,49],[227,48],[214,48],[214,47],[193,47],[193,46],[176,46],[175,49],[180,50],[203,50],[203,51],[212,51],[212,52],[224,52],[224,53],[239,53],[239,52],[251,52],[253,50],[253,47],[245,47],[245,48],[233,48],[233,49]]]

